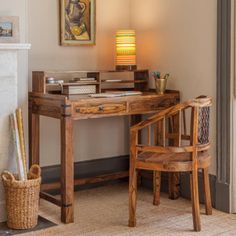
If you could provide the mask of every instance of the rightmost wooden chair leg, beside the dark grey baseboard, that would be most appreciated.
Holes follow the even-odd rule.
[[[211,190],[210,190],[208,168],[203,169],[202,172],[203,172],[203,186],[205,195],[206,214],[212,215]]]

